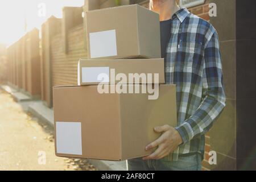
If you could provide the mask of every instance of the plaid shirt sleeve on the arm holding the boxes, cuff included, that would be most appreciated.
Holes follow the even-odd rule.
[[[222,65],[218,35],[214,31],[204,50],[203,98],[200,106],[184,123],[175,129],[181,135],[183,144],[209,131],[213,122],[225,107]]]

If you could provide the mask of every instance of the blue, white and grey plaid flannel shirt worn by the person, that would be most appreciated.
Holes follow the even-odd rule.
[[[225,107],[218,35],[204,19],[185,8],[172,16],[166,48],[167,84],[176,84],[177,127],[183,139],[171,160],[179,154],[204,154],[204,134]],[[202,155],[203,157],[204,155]]]

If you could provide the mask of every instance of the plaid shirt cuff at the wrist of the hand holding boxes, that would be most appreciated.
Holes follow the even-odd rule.
[[[182,125],[175,127],[175,129],[179,132],[183,143],[185,144],[189,142],[193,138],[193,129],[188,122],[184,122]]]

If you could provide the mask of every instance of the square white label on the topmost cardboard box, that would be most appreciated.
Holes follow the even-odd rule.
[[[92,32],[90,39],[90,57],[108,57],[117,55],[115,30]]]

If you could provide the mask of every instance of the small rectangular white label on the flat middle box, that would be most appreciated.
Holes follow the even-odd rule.
[[[109,82],[109,67],[82,67],[82,82]]]

